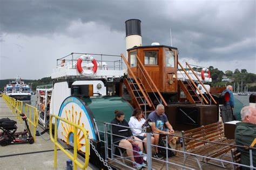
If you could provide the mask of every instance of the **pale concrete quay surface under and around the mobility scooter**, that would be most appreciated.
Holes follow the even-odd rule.
[[[13,114],[4,99],[0,97],[0,119],[9,118],[17,121],[17,131],[24,130],[24,121],[19,123],[16,114]],[[39,132],[42,132],[38,128]],[[49,133],[44,133],[36,138],[33,144],[11,144],[0,146],[0,165],[3,170],[32,170],[32,169],[54,169],[53,168],[53,143]],[[57,151],[57,169],[66,169],[66,160],[69,158],[62,152]],[[91,169],[91,168],[87,168]]]

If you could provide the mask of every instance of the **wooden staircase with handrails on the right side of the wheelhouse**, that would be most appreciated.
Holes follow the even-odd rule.
[[[201,92],[201,90],[198,89],[198,86],[194,83],[192,78],[188,75],[186,70],[183,68],[183,66],[179,62],[178,62],[178,65],[181,67],[181,69],[184,71],[184,73],[188,77],[188,80],[186,80],[186,81],[178,80],[178,85],[184,91],[184,93],[186,94],[186,97],[190,101],[190,103],[204,104],[204,105],[208,105],[208,104],[211,105],[212,103],[217,104],[217,102],[212,97],[211,93],[208,92],[208,90],[206,89],[204,84],[201,82],[201,80],[198,78],[197,74],[193,71],[191,66],[186,62],[186,65],[192,71],[193,75],[197,78],[198,83],[201,85],[201,87],[204,88],[207,95],[205,95],[205,93],[203,94]]]

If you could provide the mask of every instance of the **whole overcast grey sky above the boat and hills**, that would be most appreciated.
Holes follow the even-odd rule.
[[[179,49],[179,61],[256,73],[256,1],[0,0],[0,79],[50,77],[71,52],[120,55],[125,21],[142,21],[143,45]]]

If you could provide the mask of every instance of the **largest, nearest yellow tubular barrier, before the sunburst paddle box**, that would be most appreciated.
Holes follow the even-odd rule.
[[[55,125],[54,125],[54,139],[52,137],[52,117],[55,117]],[[73,126],[73,134],[74,134],[74,146],[73,146],[73,156],[68,152],[66,151],[62,145],[60,145],[58,142],[57,142],[57,120],[61,120],[61,121],[64,121],[66,124],[69,124],[71,126]],[[84,140],[85,140],[85,160],[84,160],[84,165],[82,165],[78,159],[77,159],[77,142],[78,142],[78,137],[77,137],[77,133],[78,131],[77,130],[80,130],[84,133]],[[63,118],[60,118],[58,117],[57,115],[53,115],[51,114],[50,115],[50,138],[51,138],[51,141],[53,142],[54,144],[54,168],[57,168],[57,147],[63,152],[65,153],[73,162],[74,162],[74,170],[77,169],[77,165],[82,168],[82,169],[85,169],[88,165],[89,165],[89,152],[90,152],[90,143],[89,143],[89,138],[88,138],[88,133],[89,131],[88,130],[85,130],[84,127],[82,126],[79,126],[75,123],[72,123],[71,121],[68,121],[66,119],[63,119]]]

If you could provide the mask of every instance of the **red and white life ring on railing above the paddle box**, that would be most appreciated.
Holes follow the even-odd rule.
[[[93,67],[92,67],[92,70],[83,70],[82,68],[82,62],[86,60],[86,61],[91,61],[92,64],[93,64]],[[97,62],[96,60],[90,56],[90,55],[83,55],[83,56],[80,56],[78,59],[77,59],[77,71],[80,73],[80,74],[83,74],[84,76],[86,77],[90,77],[92,76],[93,74],[96,73],[97,71]]]

